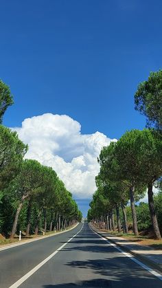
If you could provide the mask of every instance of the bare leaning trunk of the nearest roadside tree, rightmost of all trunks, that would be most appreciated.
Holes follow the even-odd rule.
[[[156,239],[161,239],[161,232],[159,230],[159,225],[157,222],[157,215],[154,209],[154,199],[153,199],[153,192],[152,192],[152,183],[148,184],[148,205],[150,210],[150,217],[152,221],[152,228],[154,230],[154,235]]]

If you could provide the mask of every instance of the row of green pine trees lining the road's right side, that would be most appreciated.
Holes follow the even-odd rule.
[[[135,202],[148,190],[148,206],[154,236],[161,239],[152,188],[162,176],[162,71],[150,73],[135,93],[135,109],[146,115],[143,131],[127,131],[117,142],[103,147],[98,158],[100,173],[96,177],[97,191],[90,203],[88,219],[97,223],[106,219],[108,229],[121,231],[119,207],[122,209],[124,232],[128,233],[126,207],[130,202],[132,226],[139,234]],[[162,212],[162,211],[161,211]]]

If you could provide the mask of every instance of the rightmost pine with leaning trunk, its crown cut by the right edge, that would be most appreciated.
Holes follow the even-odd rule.
[[[152,228],[156,238],[161,239],[152,187],[162,176],[162,134],[154,129],[143,129],[143,131],[139,131],[138,142],[140,143],[139,162],[141,162],[139,179],[148,186],[148,205]]]

